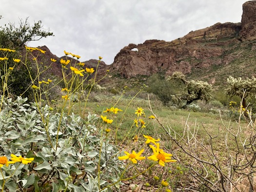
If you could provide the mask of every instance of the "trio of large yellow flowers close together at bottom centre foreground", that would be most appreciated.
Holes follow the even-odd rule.
[[[172,160],[172,154],[165,153],[162,149],[160,149],[160,144],[157,143],[160,139],[154,139],[151,136],[143,135],[147,138],[146,144],[153,143],[155,146],[149,144],[149,147],[153,151],[153,155],[147,157],[149,160],[158,161],[160,166],[165,166],[165,163],[168,162],[176,162],[176,160]],[[133,163],[137,163],[137,160],[145,159],[145,157],[140,156],[143,153],[144,149],[140,150],[138,154],[135,151],[132,151],[132,154],[128,152],[124,152],[126,155],[119,156],[119,160],[129,159]]]

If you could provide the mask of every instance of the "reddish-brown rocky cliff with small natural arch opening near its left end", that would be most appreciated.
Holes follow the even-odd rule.
[[[166,76],[175,71],[187,74],[194,68],[230,63],[234,57],[226,53],[241,41],[252,39],[256,39],[256,0],[243,4],[241,23],[216,23],[170,42],[154,39],[129,44],[107,69],[126,78],[158,72]]]

